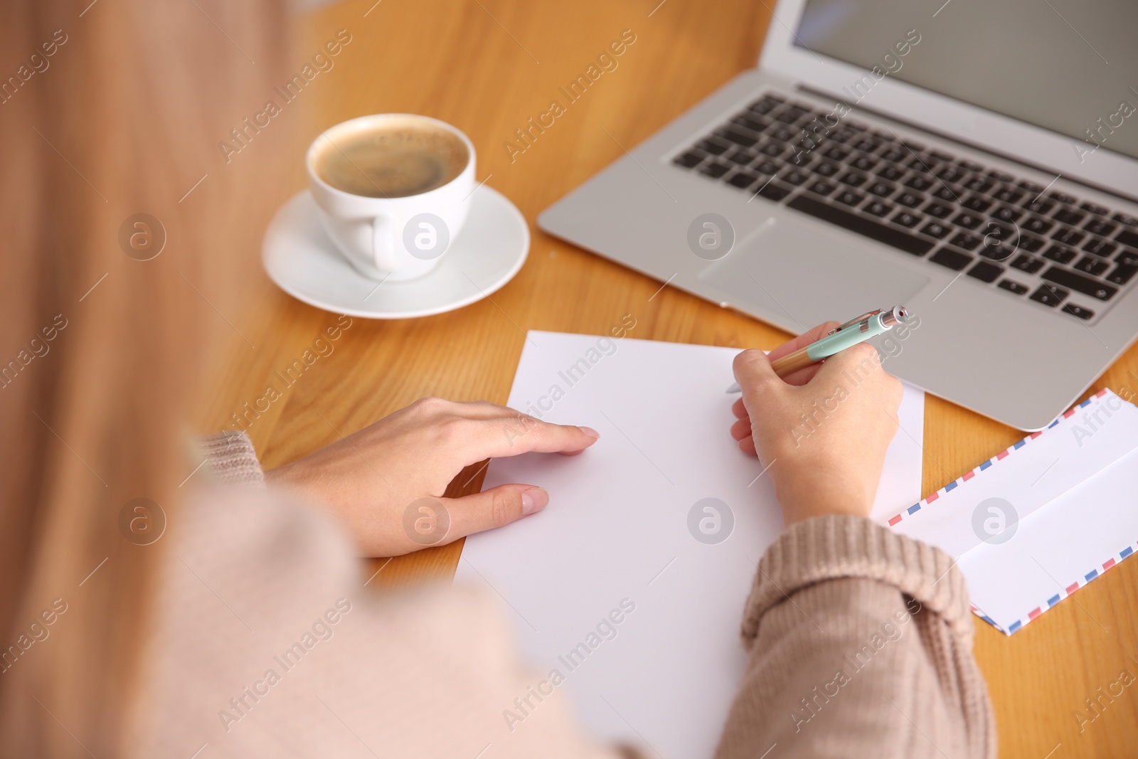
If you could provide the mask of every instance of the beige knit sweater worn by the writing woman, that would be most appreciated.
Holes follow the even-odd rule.
[[[138,756],[635,752],[585,735],[560,693],[511,732],[502,711],[534,675],[494,599],[372,592],[338,526],[264,487],[247,437],[205,446],[214,482],[167,546]],[[791,527],[743,610],[750,659],[717,756],[995,756],[972,625],[937,548],[864,519]]]

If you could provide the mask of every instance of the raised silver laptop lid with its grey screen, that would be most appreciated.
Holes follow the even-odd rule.
[[[1138,200],[1138,2],[782,0],[760,66]]]

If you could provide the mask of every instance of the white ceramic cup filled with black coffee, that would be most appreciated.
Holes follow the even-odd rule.
[[[343,189],[351,182],[337,187],[329,181],[324,167],[333,159],[344,166],[347,166],[345,160],[349,162],[358,168],[357,162],[341,146],[378,133],[397,135],[401,131],[423,133],[431,130],[435,134],[443,130],[465,146],[465,164],[461,168],[457,167],[462,156],[454,150],[448,154],[451,162],[447,167],[451,173],[457,170],[450,181],[424,191],[414,191],[415,188],[411,187],[407,195],[386,193],[372,179],[368,179],[368,187],[353,188],[356,192]],[[337,124],[308,147],[305,165],[308,187],[320,208],[320,220],[328,237],[353,266],[376,280],[410,280],[427,274],[438,265],[467,221],[475,189],[475,146],[470,139],[446,122],[415,114],[378,114]],[[358,178],[366,179],[369,174],[360,170]],[[381,197],[365,193],[371,192],[372,187]]]

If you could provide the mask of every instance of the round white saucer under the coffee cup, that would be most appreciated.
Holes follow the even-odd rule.
[[[282,290],[332,313],[413,319],[453,311],[513,279],[529,253],[529,226],[502,193],[484,185],[470,203],[451,249],[419,279],[380,283],[356,271],[324,234],[308,190],[277,212],[265,230],[261,261]]]

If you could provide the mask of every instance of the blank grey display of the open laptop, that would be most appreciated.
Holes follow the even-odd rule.
[[[1138,2],[941,1],[807,0],[794,43],[1138,158]]]

